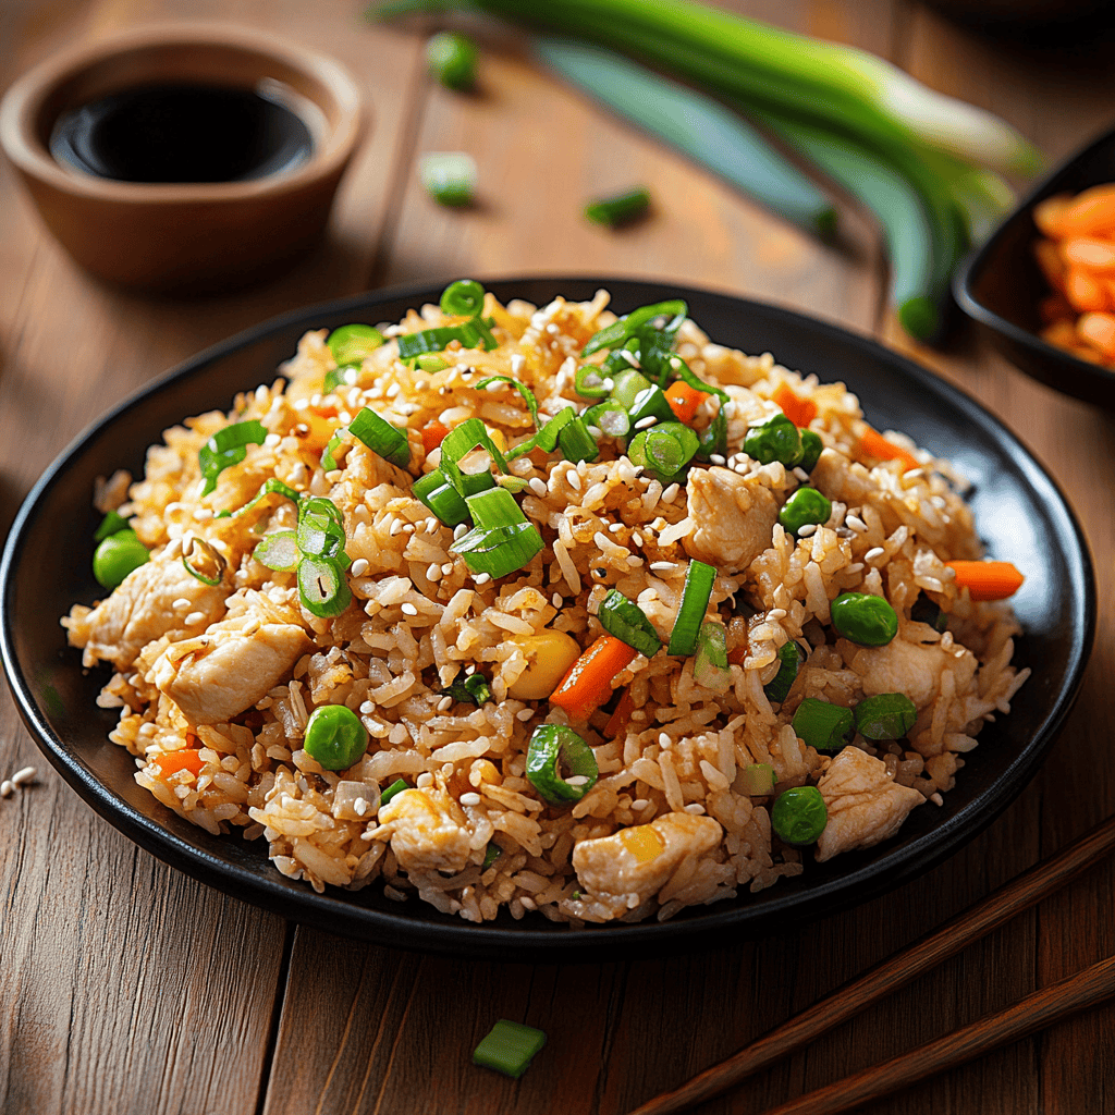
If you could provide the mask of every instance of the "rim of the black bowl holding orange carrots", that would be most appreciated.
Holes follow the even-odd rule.
[[[1087,379],[1094,380],[1097,385],[1103,385],[1107,389],[1115,388],[1115,370],[1105,368],[1103,365],[1093,363],[1090,360],[1082,360],[1072,352],[1056,348],[1048,341],[1043,340],[1037,333],[1024,329],[1021,326],[1008,321],[996,313],[989,306],[981,302],[972,290],[977,277],[987,268],[988,259],[998,246],[999,241],[1006,235],[1008,226],[1015,221],[1025,217],[1038,202],[1053,196],[1058,192],[1061,178],[1068,175],[1073,165],[1079,159],[1090,155],[1098,147],[1109,146],[1115,143],[1115,127],[1107,128],[1084,146],[1077,148],[1073,154],[1061,159],[1040,182],[1034,185],[1024,197],[1002,217],[982,244],[970,252],[960,265],[960,269],[952,279],[952,297],[961,310],[973,321],[986,326],[988,329],[1000,333],[1016,345],[1020,345],[1034,352],[1035,356],[1058,361],[1069,361],[1068,367],[1080,372]],[[1086,186],[1083,188],[1087,188]],[[1035,230],[1036,231],[1036,230]],[[1014,362],[1014,361],[1012,361]],[[1021,368],[1026,375],[1032,376],[1027,369]],[[1055,386],[1055,385],[1050,385]],[[1075,394],[1075,392],[1073,392]]]

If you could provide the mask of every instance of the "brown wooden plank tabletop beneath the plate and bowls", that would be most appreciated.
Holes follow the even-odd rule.
[[[1000,415],[1070,493],[1096,559],[1098,639],[1077,709],[1018,802],[951,861],[886,898],[756,943],[578,967],[430,959],[307,931],[138,851],[41,759],[11,701],[0,773],[38,783],[0,801],[0,1111],[7,1115],[626,1112],[727,1056],[873,961],[1061,846],[1115,807],[1107,706],[1115,666],[1115,426],[979,347],[917,349],[883,308],[871,222],[847,248],[802,235],[602,115],[515,52],[487,54],[483,93],[432,85],[414,30],[358,3],[4,0],[7,80],[67,42],[166,18],[272,29],[342,58],[375,113],[328,243],[292,273],[220,301],[154,300],[78,272],[0,171],[0,514],[90,419],[192,352],[295,307],[368,288],[527,272],[660,278],[766,299],[874,334]],[[953,26],[905,0],[744,0],[741,10],[867,47],[1004,115],[1060,157],[1115,116],[1111,33],[1051,52]],[[1093,40],[1097,37],[1093,36]],[[471,151],[484,202],[437,209],[424,151]],[[657,211],[620,235],[579,215],[636,181]],[[55,622],[52,615],[45,623]],[[1097,773],[1098,772],[1098,773]],[[894,1055],[1115,950],[1113,873],[1039,910],[806,1053],[704,1109],[754,1113]],[[928,921],[927,921],[928,920]],[[497,1017],[550,1044],[520,1082],[469,1064]],[[1115,1105],[1115,1007],[1005,1048],[870,1108],[1073,1112]]]

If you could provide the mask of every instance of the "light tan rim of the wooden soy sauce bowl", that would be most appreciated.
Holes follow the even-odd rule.
[[[120,182],[59,166],[36,134],[35,122],[46,99],[94,64],[156,47],[231,47],[270,58],[328,90],[337,107],[337,123],[326,130],[320,145],[314,144],[310,158],[301,166],[245,182]],[[366,117],[360,87],[338,59],[251,27],[176,21],[130,28],[78,43],[32,66],[0,100],[0,147],[23,174],[75,197],[144,205],[216,204],[287,194],[339,175],[363,135]]]

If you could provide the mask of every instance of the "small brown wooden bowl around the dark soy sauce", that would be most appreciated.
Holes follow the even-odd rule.
[[[312,151],[301,165],[216,183],[123,182],[56,162],[68,110],[149,85],[255,90],[292,109]],[[201,293],[274,274],[320,237],[360,139],[360,90],[337,61],[246,28],[161,25],[58,54],[0,103],[0,145],[47,227],[86,270],[125,287]]]

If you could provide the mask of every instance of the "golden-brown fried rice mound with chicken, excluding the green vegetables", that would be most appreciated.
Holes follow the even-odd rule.
[[[529,387],[542,420],[583,406],[574,376],[585,342],[615,320],[607,307],[603,291],[542,308],[488,293],[498,347],[453,341],[434,371],[401,361],[395,339],[458,319],[413,310],[381,324],[387,343],[328,394],[336,361],[326,331],[309,332],[281,378],[237,396],[229,414],[167,429],[143,478],[120,473],[98,486],[100,510],[129,520],[151,560],[62,622],[87,667],[113,670],[98,704],[119,709],[110,739],[136,757],[140,786],[210,833],[262,838],[278,871],[317,891],[376,883],[466,921],[506,908],[574,927],[666,919],[759,891],[807,871],[809,857],[890,838],[911,809],[941,804],[981,726],[1009,711],[1029,671],[1011,666],[1019,629],[1009,607],[973,602],[946,565],[981,554],[962,478],[900,433],[886,435],[900,450],[892,458],[867,455],[859,400],[843,385],[724,348],[685,321],[677,353],[727,394],[728,452],[665,486],[603,435],[592,462],[520,456],[508,472],[523,483],[512,486],[545,545],[503,578],[471,573],[454,530],[413,495],[414,479],[438,464],[423,438],[432,423],[479,418],[504,447],[533,432],[522,394],[478,388],[486,377]],[[743,450],[747,430],[779,411],[774,396],[815,408],[808,426],[824,450],[811,475]],[[706,427],[718,405],[708,397],[692,425]],[[323,467],[361,407],[406,430],[408,468],[346,433],[326,462],[336,467]],[[265,439],[202,495],[198,450],[249,419]],[[293,572],[253,558],[261,534],[297,523],[281,497],[235,514],[272,478],[343,516],[352,603],[339,615],[311,614]],[[806,481],[832,514],[795,536],[777,510]],[[201,551],[216,578],[198,580],[184,563]],[[562,632],[588,648],[603,633],[597,613],[610,589],[667,640],[692,560],[717,569],[707,615],[726,628],[723,691],[698,680],[692,657],[663,648],[613,677],[612,699],[585,719],[522,696],[545,672],[531,640]],[[862,647],[834,630],[830,604],[849,591],[893,607],[890,643]],[[911,618],[920,597],[947,615],[943,631]],[[765,687],[789,640],[807,657],[773,701]],[[491,700],[446,694],[469,673],[486,679]],[[794,730],[806,698],[852,708],[894,691],[917,708],[905,738],[855,735],[832,754]],[[349,769],[323,769],[303,747],[309,716],[326,705],[346,705],[369,734]],[[579,801],[550,804],[527,777],[542,724],[570,724],[593,750],[599,779]],[[191,763],[175,762],[187,752]],[[776,779],[768,793],[748,776],[758,765]],[[381,806],[399,778],[409,788]],[[776,796],[798,786],[816,786],[827,808],[815,847],[772,830]]]

